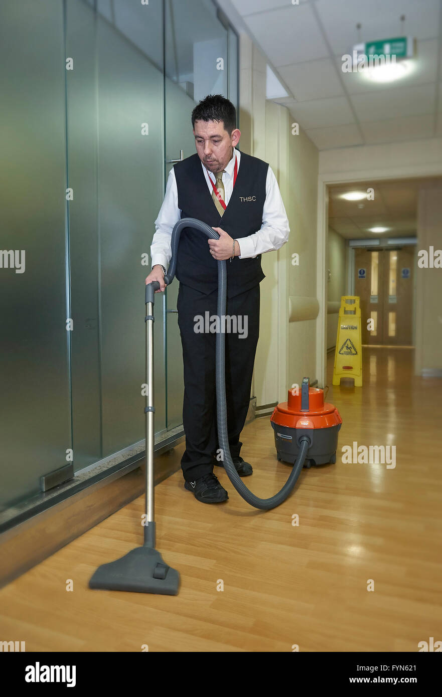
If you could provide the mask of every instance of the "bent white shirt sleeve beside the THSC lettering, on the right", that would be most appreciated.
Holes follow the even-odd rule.
[[[280,187],[269,164],[261,229],[247,237],[236,238],[241,249],[239,259],[249,257],[254,259],[258,254],[279,250],[289,239],[289,232],[289,220],[282,202]]]

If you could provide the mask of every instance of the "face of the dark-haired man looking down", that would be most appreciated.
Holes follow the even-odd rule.
[[[208,171],[219,172],[226,168],[233,157],[233,149],[239,141],[238,128],[231,135],[224,129],[224,121],[195,121],[193,130],[199,159]]]

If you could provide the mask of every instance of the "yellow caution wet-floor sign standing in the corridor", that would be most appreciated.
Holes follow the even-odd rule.
[[[354,302],[349,302],[353,300]],[[363,386],[362,339],[358,296],[342,296],[333,368],[333,385],[341,378],[354,378],[355,387]]]

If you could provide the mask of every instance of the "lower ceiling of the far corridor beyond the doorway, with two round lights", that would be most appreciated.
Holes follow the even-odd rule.
[[[442,178],[398,179],[360,182],[328,187],[328,227],[347,240],[413,237],[416,235],[418,193],[425,185],[442,186]],[[374,190],[374,199],[346,201],[349,191]],[[385,233],[369,232],[370,227],[387,227]]]

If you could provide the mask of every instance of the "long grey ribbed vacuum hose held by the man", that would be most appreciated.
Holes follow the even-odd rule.
[[[178,244],[180,240],[181,230],[185,227],[192,227],[200,232],[203,232],[207,237],[213,240],[218,240],[220,236],[218,232],[215,232],[210,225],[207,225],[201,220],[196,220],[195,218],[183,218],[178,220],[173,231],[172,231],[172,258],[170,260],[169,268],[167,269],[167,274],[165,275],[165,283],[169,286],[174,280],[175,270],[176,270],[176,257],[178,254]],[[221,317],[226,314],[227,305],[227,270],[226,262],[218,261],[218,307],[217,314]],[[223,326],[222,323],[220,325]],[[224,331],[219,331],[216,335],[216,406],[217,406],[217,426],[218,426],[218,441],[222,448],[223,453],[223,464],[224,469],[227,472],[229,480],[234,485],[236,491],[239,495],[243,497],[247,503],[255,508],[260,508],[261,510],[270,510],[270,508],[275,508],[279,506],[283,501],[286,500],[289,493],[294,489],[296,481],[300,475],[303,468],[305,457],[307,456],[307,450],[310,447],[310,438],[308,436],[303,436],[300,438],[300,449],[298,452],[298,457],[291,470],[289,479],[284,484],[284,487],[275,496],[270,496],[270,498],[259,498],[255,496],[250,489],[247,489],[243,480],[238,475],[234,463],[231,459],[231,454],[229,450],[229,438],[227,434],[227,406],[226,406],[226,376],[225,376],[225,335]]]

